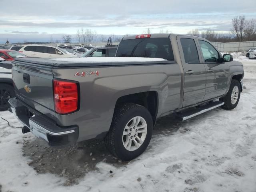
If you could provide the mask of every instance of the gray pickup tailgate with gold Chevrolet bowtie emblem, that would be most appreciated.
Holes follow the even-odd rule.
[[[56,121],[51,66],[12,62],[12,77],[17,98],[30,108]]]

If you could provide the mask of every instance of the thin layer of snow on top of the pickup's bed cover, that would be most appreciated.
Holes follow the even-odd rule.
[[[64,62],[160,62],[167,61],[162,58],[144,58],[144,57],[78,57],[78,58],[54,58],[54,61]]]

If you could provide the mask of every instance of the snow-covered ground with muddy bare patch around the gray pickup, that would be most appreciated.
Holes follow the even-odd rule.
[[[112,158],[101,143],[52,150],[0,119],[0,191],[255,192],[256,60],[237,60],[246,89],[234,110],[217,108],[185,122],[161,118],[148,149],[128,163]],[[21,126],[10,112],[0,116]],[[75,177],[75,184],[67,180]]]

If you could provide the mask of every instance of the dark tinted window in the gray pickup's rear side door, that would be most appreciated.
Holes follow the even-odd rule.
[[[182,46],[184,58],[186,63],[199,63],[198,52],[194,39],[181,38],[180,43]]]

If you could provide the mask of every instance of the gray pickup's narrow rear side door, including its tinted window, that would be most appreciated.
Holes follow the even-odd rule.
[[[184,69],[183,107],[202,102],[205,95],[206,69],[202,64],[194,38],[178,36],[178,46]]]

